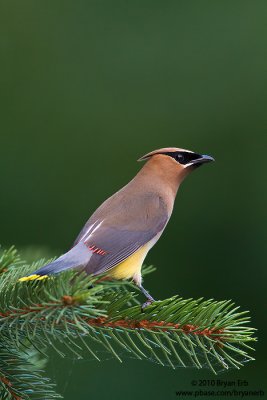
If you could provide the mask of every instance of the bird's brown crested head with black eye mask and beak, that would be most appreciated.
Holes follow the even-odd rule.
[[[207,162],[214,161],[214,158],[178,147],[165,147],[145,154],[138,161],[146,160],[148,162],[143,170],[155,172],[176,192],[190,172]]]

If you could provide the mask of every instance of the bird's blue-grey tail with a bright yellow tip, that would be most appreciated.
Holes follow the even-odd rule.
[[[92,252],[82,242],[78,243],[70,251],[63,254],[55,261],[45,265],[34,271],[31,275],[23,276],[19,279],[20,282],[42,280],[48,278],[49,275],[58,274],[71,268],[85,267],[89,262]]]

